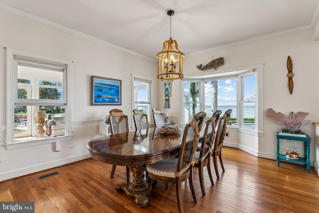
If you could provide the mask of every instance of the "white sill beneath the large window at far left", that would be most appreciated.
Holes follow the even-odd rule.
[[[13,150],[13,149],[19,149],[24,147],[32,147],[32,146],[38,146],[43,144],[50,144],[55,143],[57,141],[70,141],[72,140],[73,135],[63,135],[63,136],[56,136],[51,138],[41,138],[41,139],[31,139],[31,140],[25,140],[20,142],[15,142],[13,144],[5,144],[6,150]]]

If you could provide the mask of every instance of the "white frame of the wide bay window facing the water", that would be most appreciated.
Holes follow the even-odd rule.
[[[254,70],[254,71],[253,71]],[[250,73],[255,73],[255,91],[256,91],[256,99],[255,99],[255,128],[245,128],[241,125],[241,101],[242,101],[242,93],[243,93],[243,83],[242,77],[249,75]],[[200,90],[203,90],[204,81],[208,80],[220,80],[225,78],[237,78],[237,111],[236,114],[240,115],[240,118],[237,116],[237,125],[236,126],[228,126],[231,129],[237,129],[239,132],[245,132],[252,135],[258,135],[259,133],[263,133],[263,64],[255,64],[251,66],[237,67],[225,70],[217,70],[217,71],[208,71],[204,73],[195,73],[185,75],[183,78],[182,86],[181,86],[181,106],[184,104],[184,81],[201,81]],[[204,100],[204,92],[200,92],[200,99]],[[203,107],[204,104],[201,104]],[[203,110],[203,109],[202,109]],[[181,107],[180,117],[182,123],[184,123],[184,108]],[[240,122],[239,122],[240,121]]]

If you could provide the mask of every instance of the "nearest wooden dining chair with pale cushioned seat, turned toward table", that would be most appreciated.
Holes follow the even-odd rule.
[[[197,203],[192,180],[193,165],[194,155],[198,146],[198,139],[205,116],[205,112],[199,112],[185,125],[178,158],[171,157],[147,165],[149,201],[151,201],[152,180],[172,182],[176,186],[178,211],[179,213],[183,213],[181,183],[188,180],[194,203]],[[200,125],[197,127],[198,123]]]

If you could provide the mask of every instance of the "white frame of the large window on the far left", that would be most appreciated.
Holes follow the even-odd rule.
[[[39,139],[30,139],[25,141],[14,141],[14,105],[15,103],[25,104],[25,105],[41,105],[46,103],[47,105],[56,105],[58,101],[45,100],[40,101],[33,100],[17,100],[17,60],[14,59],[14,55],[20,55],[27,58],[34,58],[38,61],[43,61],[46,63],[52,62],[65,64],[67,69],[64,71],[64,90],[63,96],[64,100],[60,102],[65,103],[65,135],[56,136],[50,138],[39,138]],[[5,146],[7,150],[36,146],[41,144],[48,144],[56,141],[67,141],[72,139],[72,122],[71,122],[71,73],[72,73],[72,62],[67,60],[62,60],[59,58],[39,55],[35,53],[30,53],[21,50],[15,50],[11,48],[6,48],[6,141]],[[13,85],[13,86],[12,86]],[[38,87],[38,86],[37,86]]]

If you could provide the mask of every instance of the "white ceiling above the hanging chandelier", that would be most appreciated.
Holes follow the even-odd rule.
[[[169,9],[175,11],[171,37],[187,57],[226,44],[311,29],[319,16],[318,1],[0,0],[0,9],[156,59],[170,37]]]

